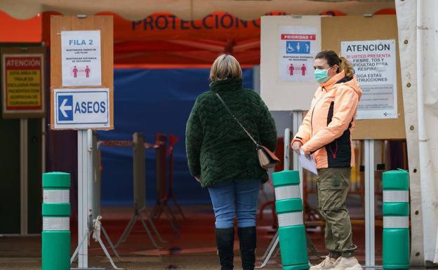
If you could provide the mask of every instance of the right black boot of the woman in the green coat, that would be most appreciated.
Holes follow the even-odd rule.
[[[239,228],[240,255],[242,268],[253,270],[255,263],[255,245],[257,243],[257,230],[255,227]]]

